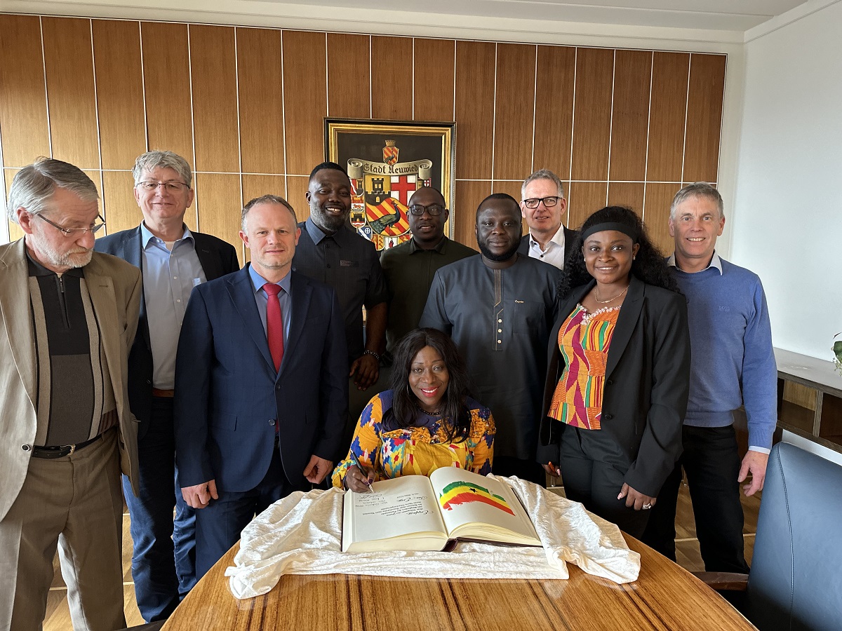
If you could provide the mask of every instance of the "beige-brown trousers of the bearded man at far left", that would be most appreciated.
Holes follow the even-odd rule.
[[[0,629],[41,628],[56,547],[75,631],[125,627],[119,459],[116,429],[64,458],[29,459],[0,521]]]

